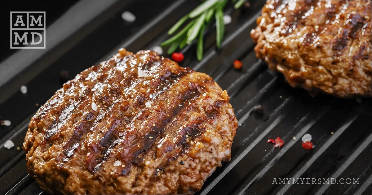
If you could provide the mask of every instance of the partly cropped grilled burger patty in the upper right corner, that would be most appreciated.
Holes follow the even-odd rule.
[[[292,87],[371,97],[371,1],[267,1],[257,57]]]

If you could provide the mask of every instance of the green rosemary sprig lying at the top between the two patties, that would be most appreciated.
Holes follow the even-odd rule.
[[[221,48],[222,40],[225,33],[224,24],[224,8],[228,0],[215,1],[207,0],[192,10],[186,16],[183,16],[175,25],[173,25],[168,31],[168,35],[173,35],[181,26],[187,21],[191,20],[182,30],[180,30],[173,37],[165,40],[160,46],[170,45],[167,53],[171,54],[177,50],[177,48],[183,49],[186,45],[190,45],[197,37],[197,48],[196,56],[200,61],[203,58],[203,36],[206,26],[212,22],[213,16],[216,20],[216,45],[217,48]],[[232,1],[234,8],[238,9],[243,5],[243,1]]]

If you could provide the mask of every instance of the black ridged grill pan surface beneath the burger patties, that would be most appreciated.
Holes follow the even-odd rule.
[[[209,74],[230,95],[239,128],[232,146],[232,158],[208,178],[198,194],[371,194],[371,99],[343,100],[327,95],[310,97],[302,89],[289,87],[279,74],[269,71],[253,51],[250,30],[256,27],[264,1],[251,1],[246,11],[228,10],[232,23],[226,26],[222,48],[215,48],[215,30],[205,39],[205,53],[196,60],[195,45],[183,50],[181,66]],[[198,1],[133,1],[118,4],[112,17],[86,33],[84,39],[61,53],[45,69],[35,71],[29,81],[10,80],[26,85],[27,94],[11,93],[1,100],[0,194],[42,194],[26,170],[22,143],[28,123],[62,82],[61,70],[74,75],[108,59],[118,48],[128,51],[151,49],[167,38],[166,31],[178,19],[198,5]],[[136,20],[126,23],[121,13],[134,13]],[[57,46],[58,47],[58,46]],[[47,60],[46,52],[41,59]],[[234,60],[243,62],[240,71],[232,68]],[[30,66],[36,66],[35,63]],[[23,73],[24,74],[24,73]],[[262,105],[263,116],[251,113]],[[334,134],[331,134],[334,132]],[[304,150],[301,137],[312,135],[315,147]],[[267,139],[281,137],[284,145],[274,148]],[[296,137],[296,140],[292,138]],[[15,147],[4,148],[6,140]],[[359,178],[359,184],[273,184],[273,178]]]

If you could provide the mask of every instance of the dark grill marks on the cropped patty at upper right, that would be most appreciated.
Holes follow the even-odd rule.
[[[296,4],[295,9],[291,10],[291,4]],[[311,12],[317,9],[318,4],[324,9],[327,1],[276,1],[273,3],[276,14],[286,15],[285,25],[282,27],[280,33],[288,36],[295,33],[295,28],[302,28],[308,20],[321,20],[317,26],[312,29],[308,29],[308,32],[304,35],[303,45],[310,46],[315,40],[318,40],[320,33],[323,33],[323,29],[328,30],[327,27],[333,25],[336,20],[339,20],[341,14],[345,13],[350,3],[349,1],[335,1],[330,3],[325,13],[324,19],[313,18]],[[293,7],[292,7],[293,9]],[[344,49],[347,47],[350,39],[357,39],[360,31],[367,25],[366,19],[361,17],[359,13],[349,13],[348,19],[343,24],[343,28],[339,30],[333,44],[333,50],[336,51],[336,55],[342,55]],[[300,26],[299,26],[300,25]]]

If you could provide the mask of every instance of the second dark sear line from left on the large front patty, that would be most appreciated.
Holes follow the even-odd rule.
[[[89,112],[84,120],[76,126],[74,130],[74,135],[70,140],[63,146],[64,153],[67,157],[70,157],[74,154],[74,150],[77,149],[80,145],[80,138],[83,137],[90,127],[92,126],[91,120],[94,119],[94,114]]]

